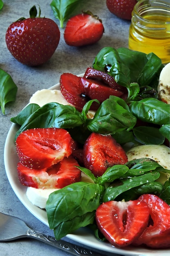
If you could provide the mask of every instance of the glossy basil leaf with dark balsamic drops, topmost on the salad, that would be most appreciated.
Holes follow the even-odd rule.
[[[121,63],[121,59],[115,48],[104,47],[100,50],[93,61],[93,68],[110,74],[118,84],[125,87],[129,86],[130,71],[128,65]]]

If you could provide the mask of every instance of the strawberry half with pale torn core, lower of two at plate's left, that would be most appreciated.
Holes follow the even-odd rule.
[[[42,170],[30,169],[19,162],[17,171],[20,183],[24,186],[32,186],[36,189],[62,189],[80,181],[81,171],[75,167],[78,165],[77,161],[69,156]]]

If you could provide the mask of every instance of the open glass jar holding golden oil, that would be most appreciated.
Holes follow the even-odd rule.
[[[129,49],[170,62],[170,0],[140,0],[132,11]]]

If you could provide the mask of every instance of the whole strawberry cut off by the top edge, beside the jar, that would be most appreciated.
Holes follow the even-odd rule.
[[[125,20],[131,20],[132,10],[136,3],[137,0],[106,0],[109,11]]]

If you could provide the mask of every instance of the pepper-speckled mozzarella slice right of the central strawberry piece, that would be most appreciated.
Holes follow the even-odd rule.
[[[126,152],[128,161],[142,157],[150,158],[163,168],[170,170],[170,148],[165,145],[141,145]],[[161,173],[158,181],[164,184],[170,177],[169,173]]]

